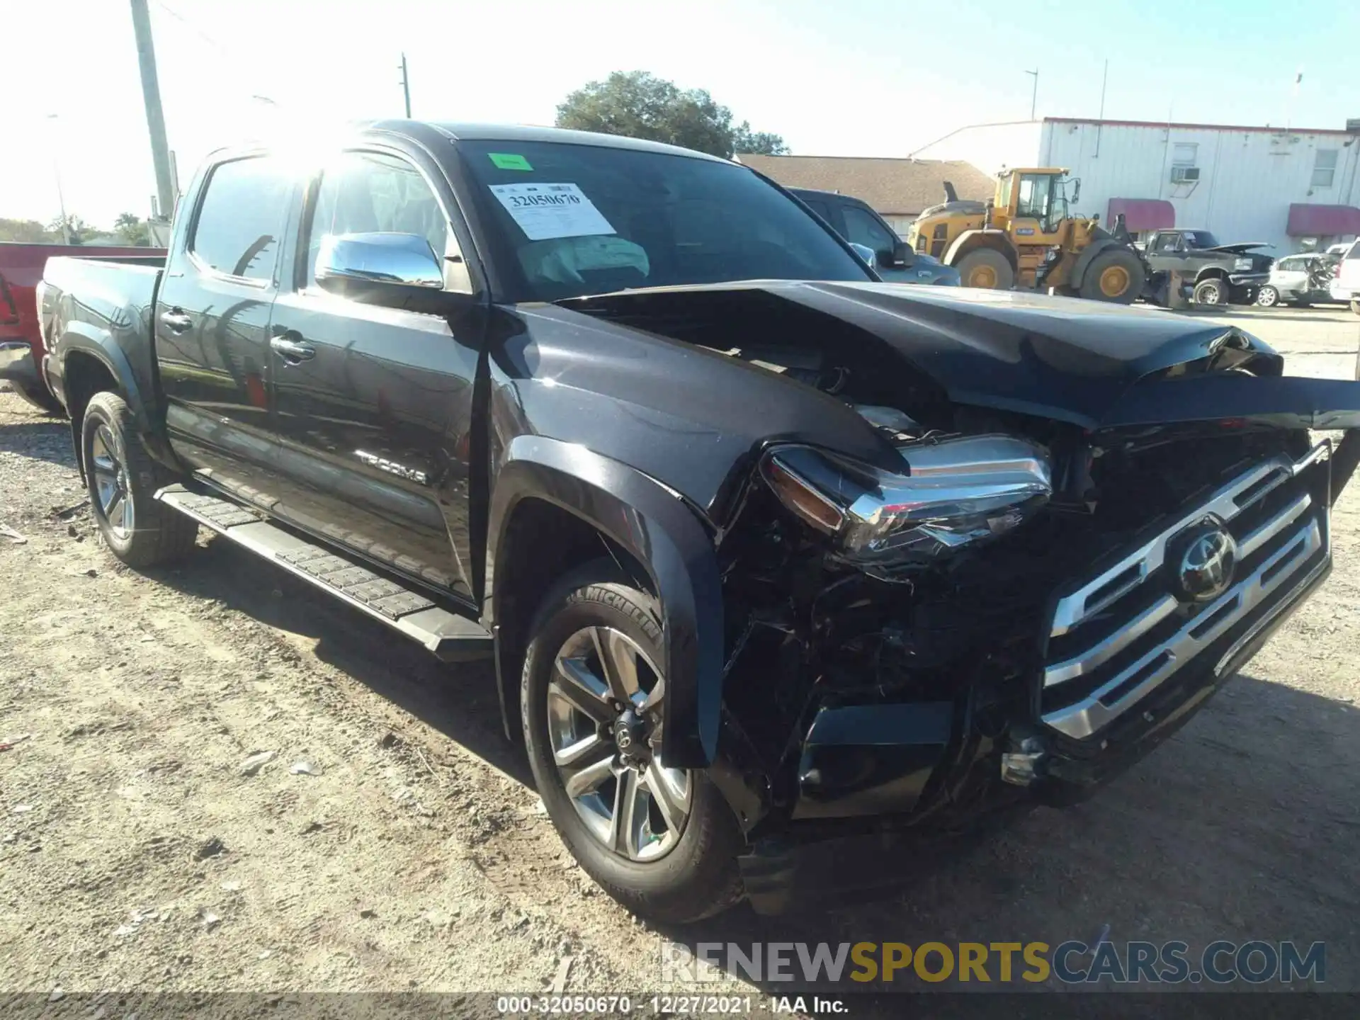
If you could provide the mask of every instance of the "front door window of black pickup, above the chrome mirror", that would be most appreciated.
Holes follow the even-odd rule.
[[[449,220],[419,170],[384,152],[343,152],[317,189],[303,284],[316,280],[322,238],[371,233],[418,234],[441,261],[447,254]]]

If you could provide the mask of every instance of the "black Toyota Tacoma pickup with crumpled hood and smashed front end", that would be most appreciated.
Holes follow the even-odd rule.
[[[1235,328],[884,284],[747,167],[574,132],[219,152],[163,269],[53,258],[41,317],[116,556],[208,528],[494,656],[563,840],[669,921],[1092,792],[1323,581],[1360,458],[1360,382]]]

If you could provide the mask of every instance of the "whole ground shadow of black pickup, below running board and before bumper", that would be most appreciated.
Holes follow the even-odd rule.
[[[502,732],[490,662],[441,665],[419,646],[332,602],[272,564],[211,541],[189,564],[151,575],[199,598],[219,600],[264,624],[316,641],[314,653],[413,714],[484,762],[532,786],[521,749]],[[1095,941],[1108,926],[1129,940],[1327,945],[1327,987],[1360,990],[1360,710],[1272,683],[1232,680],[1180,733],[1093,800],[1065,811],[1038,808],[1005,827],[933,845],[861,840],[836,845],[801,874],[790,908],[766,917],[748,906],[684,928],[673,942],[752,944],[928,941]],[[762,975],[714,990],[789,994],[808,990]],[[1080,960],[1077,960],[1080,963]],[[658,962],[658,967],[660,967]],[[937,964],[936,964],[937,966]],[[898,981],[847,981],[846,991],[960,990]],[[1016,990],[1054,987],[1020,979]],[[997,967],[989,966],[993,982]],[[660,976],[660,974],[658,974]],[[994,987],[994,986],[993,986]],[[1265,986],[1269,987],[1269,986]],[[1278,987],[1278,986],[1276,986]],[[967,990],[967,989],[964,989]],[[978,989],[981,990],[981,989]],[[860,1016],[879,1012],[866,1000]],[[1016,1012],[1020,1015],[1023,1010]],[[1118,1016],[1107,1012],[1104,1016]]]

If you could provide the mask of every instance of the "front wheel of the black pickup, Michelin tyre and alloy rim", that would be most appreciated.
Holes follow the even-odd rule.
[[[600,560],[530,628],[520,687],[529,763],[577,862],[628,910],[685,923],[741,899],[741,832],[702,771],[660,760],[665,676],[656,600]]]

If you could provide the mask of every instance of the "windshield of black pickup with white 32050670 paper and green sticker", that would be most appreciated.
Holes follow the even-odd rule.
[[[509,301],[733,280],[872,279],[733,163],[555,141],[460,141]]]

